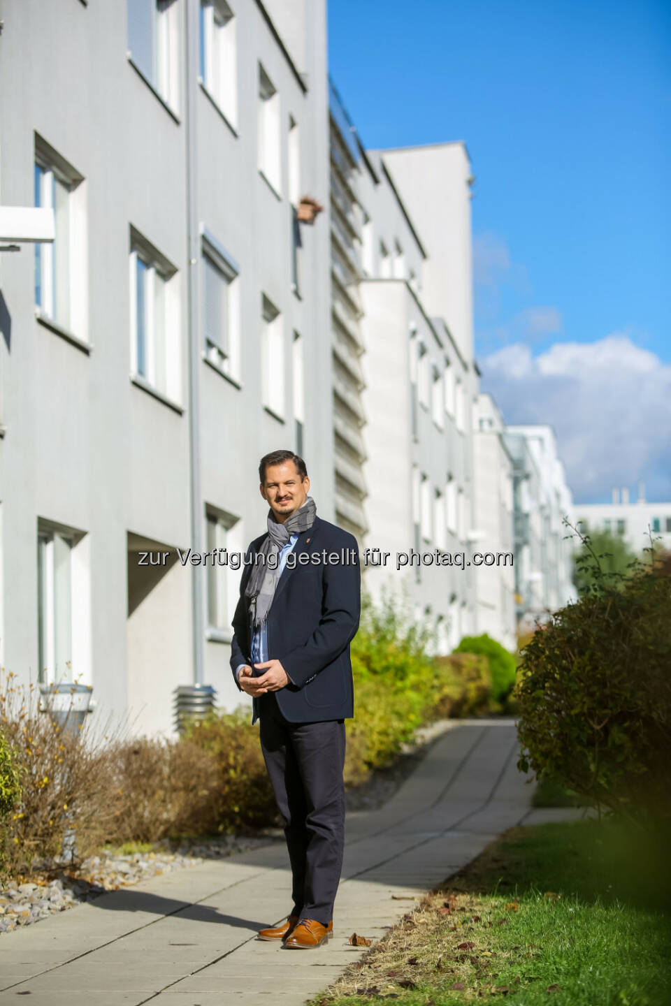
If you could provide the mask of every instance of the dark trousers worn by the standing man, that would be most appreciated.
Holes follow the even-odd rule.
[[[328,926],[345,843],[345,721],[292,723],[275,692],[260,697],[261,746],[285,824],[292,914]]]

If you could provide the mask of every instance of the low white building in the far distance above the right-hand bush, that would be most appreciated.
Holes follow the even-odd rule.
[[[629,502],[625,486],[613,490],[611,503],[576,503],[575,515],[581,530],[620,535],[637,555],[646,554],[651,538],[655,545],[671,551],[671,503],[649,503],[641,483],[635,502]]]

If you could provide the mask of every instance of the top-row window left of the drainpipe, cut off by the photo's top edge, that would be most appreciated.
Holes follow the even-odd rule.
[[[179,95],[177,0],[127,0],[129,55],[154,91],[175,111]]]

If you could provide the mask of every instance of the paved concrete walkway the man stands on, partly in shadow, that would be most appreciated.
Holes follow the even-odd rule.
[[[291,907],[287,851],[275,843],[6,934],[0,1003],[29,992],[31,1006],[300,1006],[361,956],[353,932],[379,939],[499,832],[543,819],[516,758],[512,720],[461,721],[382,808],[348,815],[334,937],[312,953],[256,940]]]

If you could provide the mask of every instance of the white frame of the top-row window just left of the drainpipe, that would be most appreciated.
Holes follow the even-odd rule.
[[[138,72],[148,81],[161,100],[175,114],[179,113],[180,33],[178,0],[127,0],[139,7],[145,4],[149,12],[149,48],[151,65],[147,65],[138,46],[133,50],[131,24],[128,24],[128,57]]]

